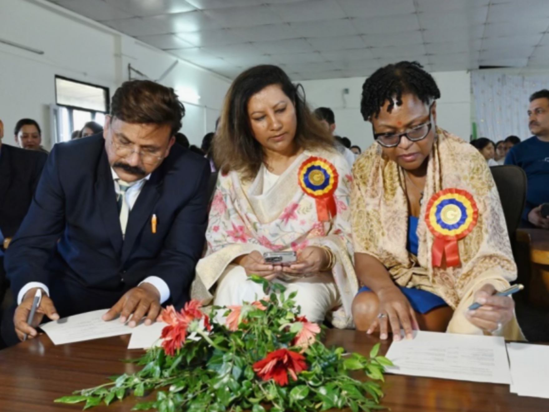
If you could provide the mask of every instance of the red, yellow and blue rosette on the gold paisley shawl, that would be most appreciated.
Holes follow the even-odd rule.
[[[477,203],[465,190],[448,188],[433,194],[425,209],[425,222],[434,235],[433,266],[441,266],[446,257],[446,266],[460,264],[457,241],[473,230],[478,220]]]

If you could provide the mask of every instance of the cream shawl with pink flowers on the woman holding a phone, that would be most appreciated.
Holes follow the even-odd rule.
[[[298,183],[299,166],[311,156],[327,159],[339,175],[334,193],[337,214],[327,222],[318,221],[315,199],[305,194]],[[242,181],[237,172],[220,175],[206,231],[208,249],[198,262],[192,297],[209,303],[215,283],[240,255],[253,250],[261,253],[300,250],[322,244],[337,257],[333,276],[343,303],[343,307],[332,314],[332,322],[341,328],[352,326],[351,303],[358,282],[352,265],[352,177],[348,164],[335,151],[305,151],[267,193],[263,193],[262,168],[251,182]]]

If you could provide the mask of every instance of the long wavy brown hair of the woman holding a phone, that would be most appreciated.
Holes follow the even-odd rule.
[[[278,85],[295,106],[297,128],[294,141],[302,149],[334,150],[334,138],[316,119],[287,74],[273,65],[254,66],[240,73],[227,91],[221,120],[214,137],[214,162],[223,174],[238,171],[253,180],[264,162],[261,144],[255,140],[248,115],[248,102],[267,86]],[[302,89],[302,88],[301,88]]]

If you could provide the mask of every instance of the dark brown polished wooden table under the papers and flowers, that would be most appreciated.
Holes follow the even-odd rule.
[[[97,386],[111,375],[132,373],[133,364],[120,359],[137,358],[139,350],[127,350],[129,336],[54,346],[46,335],[0,351],[0,411],[77,411],[83,404],[55,404],[53,399],[74,389]],[[369,353],[376,337],[356,331],[328,331],[328,345],[352,352]],[[389,343],[382,344],[382,353]],[[534,412],[549,411],[549,399],[518,397],[507,385],[449,381],[386,375],[383,405],[394,412]],[[115,402],[92,411],[129,411],[136,399]]]

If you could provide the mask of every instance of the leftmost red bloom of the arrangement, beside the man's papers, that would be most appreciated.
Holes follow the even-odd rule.
[[[160,315],[160,318],[167,323],[162,330],[162,347],[167,355],[173,356],[176,350],[181,349],[187,338],[187,328],[194,320],[204,318],[204,325],[207,330],[211,330],[208,316],[200,310],[200,300],[191,300],[187,302],[183,309],[178,313],[173,306],[168,306]]]

